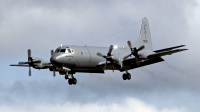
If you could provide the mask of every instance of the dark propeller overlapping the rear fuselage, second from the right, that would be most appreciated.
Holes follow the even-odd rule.
[[[103,57],[103,58],[106,59],[106,64],[105,64],[105,66],[104,66],[104,70],[105,70],[106,67],[107,67],[108,61],[110,61],[111,64],[112,64],[112,67],[113,67],[113,72],[114,72],[114,64],[113,64],[113,62],[114,62],[114,61],[118,62],[118,60],[112,58],[112,57],[113,57],[113,55],[112,55],[113,49],[114,49],[113,45],[110,45],[107,55],[103,55],[102,53],[97,52],[97,56]]]

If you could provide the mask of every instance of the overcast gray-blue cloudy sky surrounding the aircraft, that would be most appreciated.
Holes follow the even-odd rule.
[[[0,110],[199,112],[199,5],[199,0],[0,0]],[[126,46],[139,37],[143,17],[154,50],[176,45],[189,50],[130,70],[130,81],[118,71],[77,73],[75,86],[49,70],[32,69],[29,77],[27,68],[9,66],[26,61],[29,48],[49,60],[60,44]]]

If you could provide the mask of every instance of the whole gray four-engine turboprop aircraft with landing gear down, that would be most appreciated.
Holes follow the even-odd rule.
[[[130,80],[131,74],[128,70],[164,61],[162,56],[187,50],[178,49],[185,46],[180,45],[153,51],[147,18],[142,20],[139,39],[134,44],[131,41],[127,43],[128,47],[61,45],[55,52],[51,51],[50,62],[31,57],[31,51],[28,50],[28,62],[19,62],[11,66],[29,67],[29,75],[31,75],[30,67],[49,68],[54,76],[55,71],[58,71],[61,75],[65,75],[70,85],[75,85],[77,80],[73,74],[77,72],[104,73],[105,70],[119,70],[120,72],[125,71],[122,75],[124,80]]]

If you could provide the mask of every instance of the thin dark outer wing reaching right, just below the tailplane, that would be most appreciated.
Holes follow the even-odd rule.
[[[177,52],[181,52],[181,51],[185,51],[185,50],[188,50],[188,49],[175,49],[175,50],[168,50],[165,52],[158,52],[158,53],[149,55],[148,58],[156,58],[156,57],[161,57],[161,56],[165,56],[165,55],[171,55],[173,53],[177,53]]]

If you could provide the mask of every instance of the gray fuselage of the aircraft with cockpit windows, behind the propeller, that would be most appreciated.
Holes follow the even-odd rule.
[[[91,72],[103,73],[103,66],[106,59],[99,57],[97,52],[107,55],[108,47],[92,47],[92,46],[70,46],[65,45],[58,47],[51,57],[51,62],[56,66],[69,68],[74,72]],[[125,55],[130,53],[129,48],[118,47],[112,52],[112,58],[122,61]],[[62,68],[60,68],[62,70]],[[106,69],[113,69],[108,62]],[[114,67],[118,70],[118,67]]]

